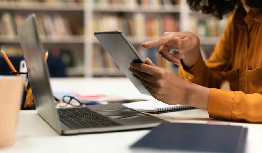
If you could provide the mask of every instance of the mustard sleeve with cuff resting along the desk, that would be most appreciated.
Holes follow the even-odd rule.
[[[261,123],[262,94],[211,88],[208,114],[211,118]]]

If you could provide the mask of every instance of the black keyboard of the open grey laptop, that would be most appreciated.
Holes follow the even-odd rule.
[[[71,129],[121,125],[89,108],[58,109],[59,120]]]

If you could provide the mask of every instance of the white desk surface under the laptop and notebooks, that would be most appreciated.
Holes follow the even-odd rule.
[[[148,98],[139,94],[126,78],[97,79],[52,79],[51,85],[56,92],[103,91],[117,92],[118,95],[132,98]],[[153,114],[171,122],[184,123],[219,123],[248,127],[246,152],[262,152],[262,124],[240,123],[233,121],[213,120],[205,110],[195,109],[180,112]],[[130,145],[150,132],[147,130],[130,130],[99,134],[81,134],[60,136],[35,110],[20,111],[16,143],[1,149],[9,152],[132,152]]]

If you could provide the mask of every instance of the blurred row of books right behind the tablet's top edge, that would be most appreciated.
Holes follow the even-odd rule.
[[[94,15],[90,35],[97,31],[121,30],[126,36],[160,37],[167,31],[179,31],[177,17],[133,14],[129,16]]]

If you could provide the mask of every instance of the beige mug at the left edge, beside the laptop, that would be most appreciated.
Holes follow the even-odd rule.
[[[22,94],[22,78],[0,76],[0,147],[14,144]]]

